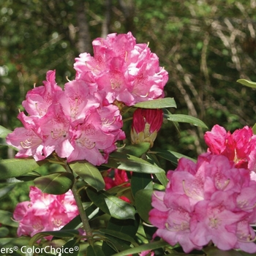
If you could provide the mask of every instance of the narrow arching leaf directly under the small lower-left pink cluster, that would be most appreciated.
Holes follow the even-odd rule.
[[[39,232],[31,237],[29,241],[29,245],[32,246],[39,239],[44,238],[45,236],[55,236],[59,238],[72,238],[72,237],[79,236],[79,232],[78,230],[56,230],[56,231]]]

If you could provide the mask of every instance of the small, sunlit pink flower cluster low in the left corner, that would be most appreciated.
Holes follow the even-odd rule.
[[[71,190],[63,195],[49,195],[30,187],[29,197],[30,201],[18,203],[13,213],[13,218],[19,222],[18,236],[60,230],[79,214]]]

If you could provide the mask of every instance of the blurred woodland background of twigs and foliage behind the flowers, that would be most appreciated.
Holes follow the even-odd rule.
[[[91,41],[132,31],[149,42],[169,72],[167,97],[177,109],[200,118],[209,129],[255,124],[255,89],[236,83],[256,80],[255,0],[0,0],[0,124],[20,126],[16,118],[26,91],[42,85],[48,69],[64,86],[75,77],[73,63],[91,53]],[[170,122],[155,148],[189,157],[206,151],[202,130]],[[0,148],[1,158],[13,157]],[[169,166],[166,166],[167,168]]]

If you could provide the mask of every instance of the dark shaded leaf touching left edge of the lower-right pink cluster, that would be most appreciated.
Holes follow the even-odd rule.
[[[148,212],[151,210],[151,197],[153,190],[151,189],[141,189],[135,195],[135,207],[140,215],[141,219],[145,222],[148,220]]]

